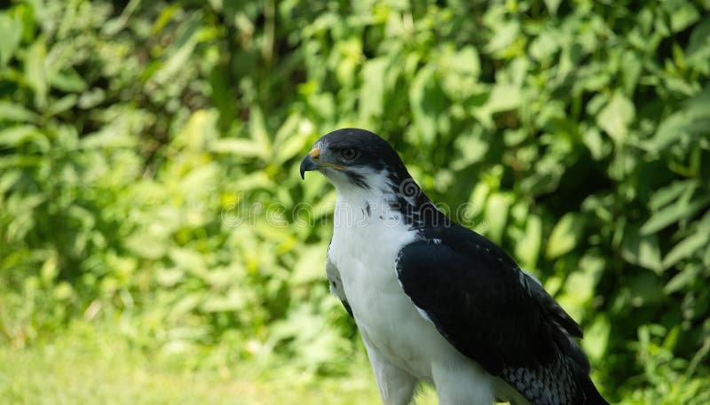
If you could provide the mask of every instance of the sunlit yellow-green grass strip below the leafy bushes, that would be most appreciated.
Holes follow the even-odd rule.
[[[378,404],[375,380],[362,365],[341,378],[287,378],[281,370],[264,377],[253,364],[181,371],[117,333],[82,323],[36,346],[0,346],[0,403]],[[436,403],[430,389],[422,392],[419,404]]]

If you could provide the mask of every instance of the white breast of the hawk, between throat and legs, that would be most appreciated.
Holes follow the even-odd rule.
[[[366,343],[417,378],[431,380],[431,360],[450,346],[406,296],[395,270],[399,251],[415,240],[416,231],[383,199],[368,197],[338,196],[328,258]]]

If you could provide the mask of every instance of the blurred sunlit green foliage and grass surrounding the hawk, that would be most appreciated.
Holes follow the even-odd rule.
[[[0,402],[378,403],[297,169],[360,127],[583,325],[611,402],[710,403],[709,10],[4,3]]]

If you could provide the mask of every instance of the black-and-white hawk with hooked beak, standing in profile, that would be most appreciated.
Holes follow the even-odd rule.
[[[356,323],[385,405],[421,382],[440,405],[607,404],[580,325],[499,245],[451,220],[365,129],[321,136],[300,164],[335,186],[330,292]]]

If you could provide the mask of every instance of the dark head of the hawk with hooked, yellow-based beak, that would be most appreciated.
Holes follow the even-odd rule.
[[[365,129],[337,129],[321,136],[301,161],[301,177],[318,170],[338,189],[372,189],[411,178],[397,152]]]

